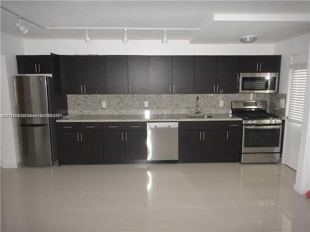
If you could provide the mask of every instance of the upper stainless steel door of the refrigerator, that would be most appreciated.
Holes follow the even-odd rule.
[[[47,76],[14,76],[16,114],[48,114]],[[17,124],[47,124],[47,117],[17,117]]]

